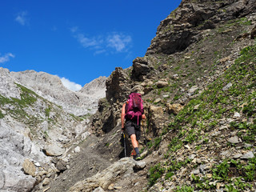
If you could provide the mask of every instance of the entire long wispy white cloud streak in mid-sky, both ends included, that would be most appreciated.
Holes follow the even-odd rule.
[[[132,42],[130,35],[117,32],[90,37],[80,32],[77,26],[70,31],[84,48],[94,50],[94,55],[128,52]]]

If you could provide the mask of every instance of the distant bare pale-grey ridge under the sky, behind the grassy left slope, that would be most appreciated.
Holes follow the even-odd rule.
[[[16,82],[75,115],[94,114],[98,109],[98,100],[105,97],[106,77],[94,79],[82,87],[82,90],[74,92],[66,89],[60,78],[44,72],[26,70],[11,72],[10,75]]]

